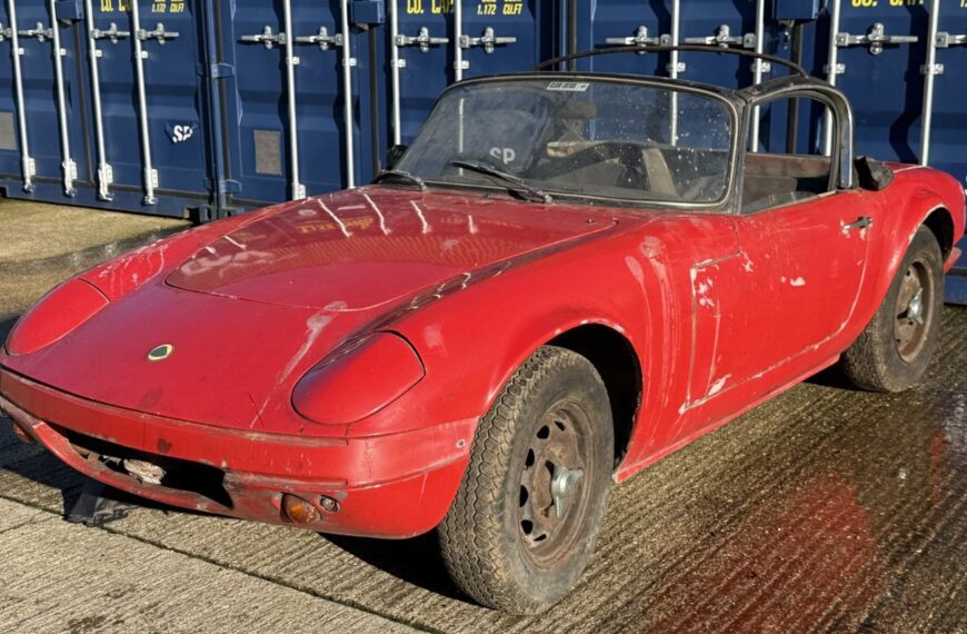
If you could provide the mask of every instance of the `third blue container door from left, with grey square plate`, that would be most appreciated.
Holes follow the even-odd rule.
[[[230,202],[251,207],[351,187],[359,30],[349,2],[237,0],[221,7]]]

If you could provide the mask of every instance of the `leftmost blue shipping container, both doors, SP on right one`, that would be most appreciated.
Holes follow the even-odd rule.
[[[193,3],[7,0],[0,16],[8,196],[170,216],[209,204]]]

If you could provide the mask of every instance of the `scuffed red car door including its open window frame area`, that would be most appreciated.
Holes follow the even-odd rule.
[[[794,99],[771,103],[764,119],[785,128]],[[836,164],[821,152],[825,105],[805,101],[796,106],[814,125],[800,146],[814,151],[764,151],[777,143],[762,139],[749,143],[756,151],[746,152],[734,217],[738,254],[692,273],[696,336],[686,433],[747,408],[831,358],[834,339],[856,307],[877,229],[873,201],[864,190],[838,187]],[[772,137],[769,129],[762,136]],[[839,156],[838,148],[831,156]]]

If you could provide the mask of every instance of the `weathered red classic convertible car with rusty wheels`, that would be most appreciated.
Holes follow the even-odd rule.
[[[792,101],[828,153],[750,140]],[[915,384],[965,229],[954,178],[856,159],[844,96],[795,73],[462,81],[392,155],[50,291],[0,353],[18,436],[186,508],[437,528],[460,588],[527,613],[612,482],[837,363]]]

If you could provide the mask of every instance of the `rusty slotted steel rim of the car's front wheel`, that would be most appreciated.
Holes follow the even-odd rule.
[[[520,472],[517,531],[528,558],[552,567],[580,537],[590,506],[590,419],[571,402],[550,407],[536,426]]]

